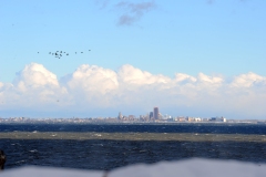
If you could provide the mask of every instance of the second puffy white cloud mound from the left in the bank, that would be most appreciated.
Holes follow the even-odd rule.
[[[62,80],[72,97],[83,110],[111,106],[112,92],[119,87],[117,74],[109,69],[83,64]]]

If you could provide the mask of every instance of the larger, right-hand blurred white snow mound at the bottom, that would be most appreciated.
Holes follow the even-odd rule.
[[[110,173],[109,177],[266,177],[266,164],[233,160],[187,159],[155,165],[134,165]]]

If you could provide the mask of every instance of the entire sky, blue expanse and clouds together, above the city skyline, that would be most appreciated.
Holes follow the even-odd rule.
[[[265,118],[266,1],[6,1],[0,116]]]

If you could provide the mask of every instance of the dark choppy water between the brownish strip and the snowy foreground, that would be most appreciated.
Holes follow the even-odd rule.
[[[266,163],[266,144],[260,143],[1,139],[1,144],[8,155],[7,168],[41,165],[113,169],[191,157]]]

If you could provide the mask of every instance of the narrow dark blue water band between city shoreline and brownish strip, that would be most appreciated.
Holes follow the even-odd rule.
[[[0,132],[150,132],[266,135],[265,124],[0,124]]]

